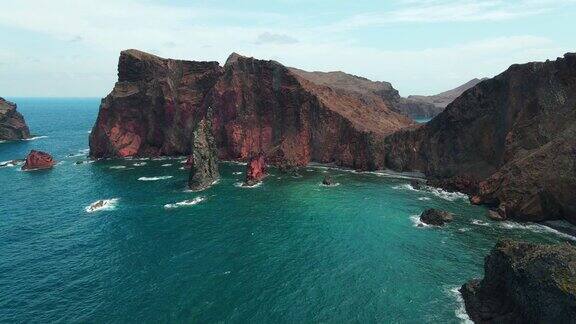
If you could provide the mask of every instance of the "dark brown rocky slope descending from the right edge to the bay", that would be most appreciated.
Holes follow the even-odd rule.
[[[575,54],[513,65],[428,124],[389,136],[386,162],[429,177],[468,179],[480,188],[475,201],[504,203],[509,218],[574,222],[568,197],[576,197],[575,107]]]

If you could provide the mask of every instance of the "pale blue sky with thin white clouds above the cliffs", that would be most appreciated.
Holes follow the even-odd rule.
[[[431,95],[576,52],[576,0],[3,0],[0,96],[104,97],[121,50],[238,52]]]

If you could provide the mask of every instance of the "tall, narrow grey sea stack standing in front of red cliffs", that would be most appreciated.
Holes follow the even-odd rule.
[[[192,155],[189,161],[190,178],[188,186],[192,190],[203,190],[211,186],[218,178],[218,152],[210,120],[203,119],[198,123],[193,135]]]

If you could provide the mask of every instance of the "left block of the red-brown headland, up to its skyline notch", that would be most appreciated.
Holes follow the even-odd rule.
[[[137,50],[120,54],[118,82],[102,100],[90,156],[189,155],[218,62],[163,59]]]

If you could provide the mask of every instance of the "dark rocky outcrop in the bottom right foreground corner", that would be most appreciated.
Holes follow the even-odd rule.
[[[499,242],[460,292],[476,323],[574,323],[576,248]]]

